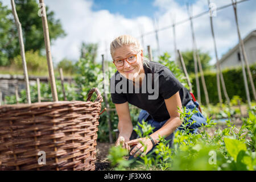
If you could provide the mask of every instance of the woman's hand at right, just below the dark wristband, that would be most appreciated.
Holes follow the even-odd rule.
[[[146,155],[147,152],[150,151],[153,147],[150,138],[146,137],[130,140],[129,142],[126,142],[125,145],[128,146],[128,150],[130,150],[130,146],[135,146],[133,150],[130,151],[130,155],[134,155],[134,157],[137,157],[139,155]],[[145,152],[144,148],[147,148]]]

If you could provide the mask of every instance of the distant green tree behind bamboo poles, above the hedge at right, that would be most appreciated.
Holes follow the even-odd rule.
[[[184,59],[185,66],[187,68],[188,73],[194,73],[194,60],[193,60],[193,51],[185,51],[181,53]],[[202,64],[203,71],[212,68],[209,64],[211,57],[209,56],[208,52],[201,52],[199,50],[199,56]]]

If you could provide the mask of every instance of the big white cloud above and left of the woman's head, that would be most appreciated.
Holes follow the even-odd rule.
[[[80,56],[81,42],[98,43],[99,51],[97,60],[101,60],[101,54],[109,49],[110,42],[121,34],[139,34],[138,24],[143,27],[151,27],[151,20],[147,17],[127,19],[120,14],[111,14],[108,10],[92,11],[92,1],[67,0],[49,1],[45,3],[61,20],[67,36],[56,40],[52,46],[52,55],[55,60],[60,61],[63,57],[77,60]],[[110,59],[110,53],[106,56]]]

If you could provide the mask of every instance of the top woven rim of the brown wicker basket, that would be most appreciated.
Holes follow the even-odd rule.
[[[24,109],[28,108],[31,106],[46,106],[46,105],[56,105],[56,104],[62,104],[62,105],[69,105],[69,104],[88,104],[88,102],[93,102],[93,101],[55,101],[55,102],[35,102],[31,104],[6,104],[0,106],[0,110],[5,108],[16,108],[16,109]],[[95,101],[93,103],[97,103],[98,101]],[[100,102],[99,102],[100,103]]]

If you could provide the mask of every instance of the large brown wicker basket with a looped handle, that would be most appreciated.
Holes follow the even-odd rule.
[[[91,102],[93,92],[97,98]],[[86,102],[0,106],[0,169],[95,170],[101,102],[93,88]],[[39,151],[46,164],[39,164]]]

